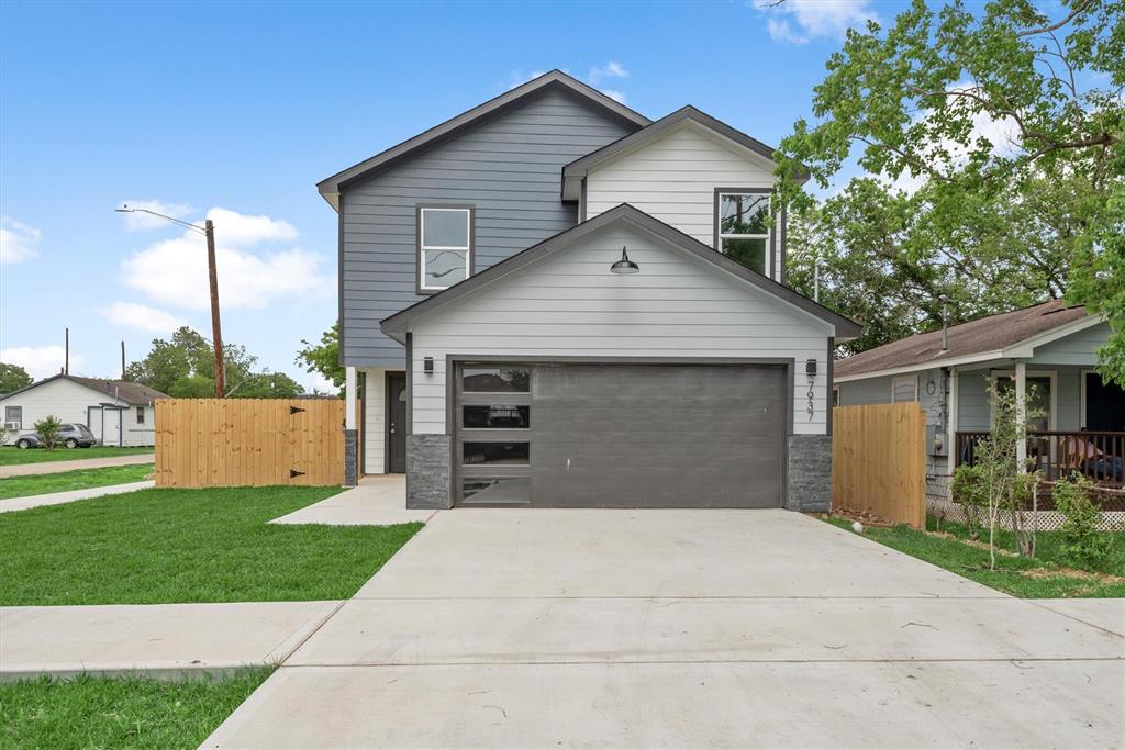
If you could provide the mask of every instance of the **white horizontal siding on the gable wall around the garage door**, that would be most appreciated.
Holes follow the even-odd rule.
[[[628,245],[636,275],[610,264]],[[793,431],[822,434],[830,326],[710,263],[622,226],[501,279],[413,332],[413,428],[446,432],[446,358],[792,358]],[[434,371],[423,361],[432,356]],[[818,363],[808,415],[806,360]]]

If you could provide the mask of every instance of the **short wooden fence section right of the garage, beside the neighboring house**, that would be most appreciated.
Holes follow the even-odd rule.
[[[832,409],[832,507],[926,526],[926,413],[917,401]]]

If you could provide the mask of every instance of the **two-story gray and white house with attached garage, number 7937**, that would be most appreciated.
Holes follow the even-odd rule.
[[[360,470],[412,507],[827,509],[860,328],[783,286],[772,155],[555,71],[321,182]]]

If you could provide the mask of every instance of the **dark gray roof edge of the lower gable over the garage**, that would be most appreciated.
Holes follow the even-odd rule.
[[[469,277],[465,281],[461,281],[449,289],[415,302],[406,309],[399,310],[398,313],[384,318],[379,323],[379,327],[382,329],[382,333],[392,338],[395,338],[395,334],[404,334],[410,322],[418,315],[431,313],[439,307],[443,307],[444,305],[459,299],[460,297],[471,293],[479,287],[492,283],[493,281],[498,281],[523,266],[529,265],[530,263],[533,263],[557,250],[566,247],[572,243],[582,240],[586,235],[597,232],[602,227],[620,219],[628,219],[639,228],[648,231],[664,241],[682,247],[710,263],[714,263],[722,270],[742,279],[744,281],[750,282],[767,293],[777,297],[794,307],[825,320],[826,323],[831,324],[836,328],[837,340],[855,338],[862,332],[860,324],[855,320],[846,318],[843,315],[828,309],[824,305],[820,305],[819,302],[812,301],[808,297],[790,289],[784,284],[777,283],[773,279],[762,275],[757,271],[752,271],[741,263],[732,261],[722,253],[708,247],[695,237],[684,234],[674,226],[665,224],[664,222],[649,216],[645,211],[629,204],[621,204],[604,214],[598,214],[594,218],[548,237],[539,244],[532,245],[523,252],[516,253],[515,255],[485,269],[480,273]],[[398,340],[396,338],[396,341]]]

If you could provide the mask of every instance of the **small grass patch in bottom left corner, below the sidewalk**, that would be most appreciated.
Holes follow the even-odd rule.
[[[215,680],[42,677],[0,685],[3,748],[196,748],[273,671]]]

